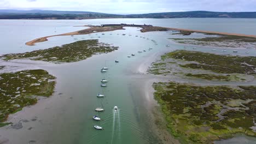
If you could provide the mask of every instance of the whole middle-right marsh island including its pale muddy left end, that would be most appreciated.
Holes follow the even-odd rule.
[[[256,73],[255,69],[256,57],[176,50],[166,53],[161,56],[159,61],[152,63],[148,73],[155,75],[179,74],[183,77],[205,80],[246,81],[253,79]]]

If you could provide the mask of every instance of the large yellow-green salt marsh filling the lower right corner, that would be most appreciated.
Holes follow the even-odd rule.
[[[236,133],[256,136],[256,87],[154,83],[171,134],[182,143],[211,143]]]

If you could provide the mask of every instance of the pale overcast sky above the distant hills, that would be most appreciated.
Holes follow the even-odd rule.
[[[0,9],[145,14],[172,11],[256,11],[256,0],[0,0]]]

